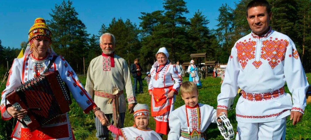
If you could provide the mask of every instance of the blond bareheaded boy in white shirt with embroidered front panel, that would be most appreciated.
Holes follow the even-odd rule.
[[[184,82],[179,90],[185,105],[169,115],[168,139],[204,140],[208,125],[216,123],[216,110],[212,106],[197,103],[199,93],[193,82]]]

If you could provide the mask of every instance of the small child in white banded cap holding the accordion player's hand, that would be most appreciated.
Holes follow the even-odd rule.
[[[148,128],[149,108],[146,104],[137,104],[134,107],[134,125],[126,128],[117,128],[102,120],[101,124],[116,134],[116,140],[162,140],[158,133]]]

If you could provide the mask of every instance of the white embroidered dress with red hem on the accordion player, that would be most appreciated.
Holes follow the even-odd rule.
[[[1,115],[3,120],[9,120],[12,117],[6,111],[6,95],[17,87],[21,86],[21,83],[25,83],[27,80],[36,77],[37,74],[42,74],[52,58],[53,55],[50,54],[44,59],[37,60],[33,58],[30,54],[19,59],[14,59],[12,68],[9,71],[9,78],[6,84],[6,89],[2,92],[1,96]],[[82,108],[82,110],[85,113],[91,111],[93,107],[96,106],[95,103],[92,101],[91,96],[85,91],[83,85],[78,79],[78,76],[72,70],[67,61],[65,61],[63,56],[58,56],[54,61],[53,65],[49,68],[49,71],[55,70],[58,70],[62,80],[69,87],[69,90],[72,93],[72,97],[77,101],[78,105]],[[7,104],[10,103],[7,101]],[[20,123],[17,123],[13,131],[12,137],[14,139],[73,139],[71,125],[67,113],[61,115],[60,117],[58,117],[58,119],[54,119],[47,125],[42,126],[40,129],[44,129],[44,132],[50,131],[51,134],[49,134],[48,136],[38,130],[35,130],[32,132],[32,134],[30,134],[28,128],[25,128],[24,126],[20,125]],[[25,132],[28,134],[25,134]],[[54,135],[54,133],[57,133],[57,135]],[[67,137],[62,137],[66,135]]]

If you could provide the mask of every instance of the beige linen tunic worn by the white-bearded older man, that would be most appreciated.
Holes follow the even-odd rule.
[[[131,75],[126,61],[118,55],[114,55],[114,67],[111,67],[110,57],[102,55],[95,57],[89,65],[87,71],[85,89],[91,96],[95,91],[113,94],[113,89],[126,90],[128,103],[137,103],[131,82]],[[94,96],[94,102],[105,114],[112,114],[112,104],[108,103],[109,98]],[[126,101],[124,94],[119,97],[119,112],[126,111]]]

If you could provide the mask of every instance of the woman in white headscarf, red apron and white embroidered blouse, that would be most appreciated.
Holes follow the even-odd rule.
[[[151,80],[148,86],[151,96],[151,116],[156,120],[156,132],[169,133],[169,113],[174,110],[174,100],[178,94],[182,78],[175,65],[169,64],[169,53],[165,47],[156,53],[157,61],[151,68]]]

